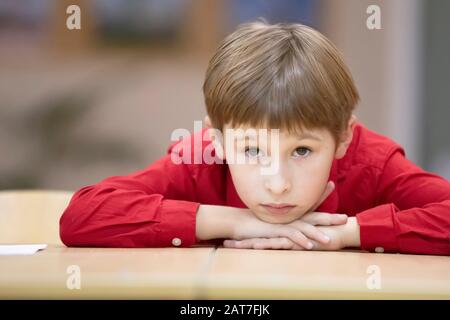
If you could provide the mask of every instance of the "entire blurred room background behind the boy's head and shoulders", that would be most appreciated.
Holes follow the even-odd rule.
[[[81,30],[66,27],[71,4]],[[259,17],[329,37],[359,119],[449,180],[449,16],[445,0],[0,0],[0,189],[76,190],[163,156],[205,116],[219,41]]]

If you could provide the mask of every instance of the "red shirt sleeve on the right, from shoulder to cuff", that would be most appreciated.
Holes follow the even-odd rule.
[[[361,248],[450,254],[450,184],[395,148],[381,171],[377,206],[356,215]]]

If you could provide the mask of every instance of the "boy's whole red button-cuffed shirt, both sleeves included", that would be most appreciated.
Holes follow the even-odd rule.
[[[60,220],[62,241],[67,246],[189,247],[199,243],[200,204],[246,208],[226,162],[177,165],[170,153],[179,152],[178,143],[144,170],[78,190]],[[201,140],[200,150],[210,143]],[[316,211],[356,216],[362,249],[450,254],[450,184],[406,159],[395,142],[358,123],[346,155],[333,161],[329,180],[336,188]]]

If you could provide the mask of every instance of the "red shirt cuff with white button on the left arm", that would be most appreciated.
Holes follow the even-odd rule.
[[[190,247],[196,243],[198,202],[164,199],[158,223],[160,247]]]

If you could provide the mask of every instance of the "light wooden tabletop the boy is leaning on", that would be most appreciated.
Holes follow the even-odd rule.
[[[31,256],[0,256],[0,298],[450,299],[450,259],[353,251],[52,245]]]

